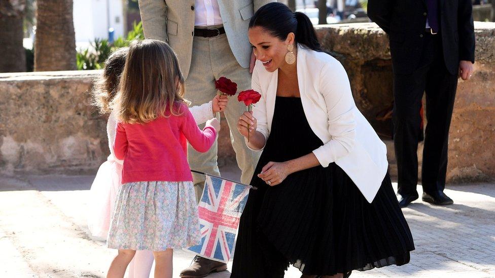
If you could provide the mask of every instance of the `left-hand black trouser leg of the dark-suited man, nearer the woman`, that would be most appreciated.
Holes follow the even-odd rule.
[[[394,74],[394,146],[397,160],[399,194],[417,195],[417,146],[421,118],[419,109],[426,86],[428,67],[411,74]]]

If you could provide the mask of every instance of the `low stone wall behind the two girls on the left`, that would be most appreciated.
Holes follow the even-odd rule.
[[[90,105],[99,70],[0,74],[0,173],[94,173],[109,155],[107,116]],[[236,101],[236,100],[235,100]],[[233,163],[226,121],[219,165]]]

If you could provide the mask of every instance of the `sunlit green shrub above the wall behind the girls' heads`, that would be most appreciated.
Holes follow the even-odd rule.
[[[130,42],[134,39],[145,39],[143,24],[141,22],[136,23],[134,21],[132,27],[132,30],[127,33],[125,39],[119,36],[111,44],[108,39],[96,38],[94,42],[91,42],[91,48],[78,51],[76,54],[77,68],[79,70],[100,69],[112,51],[129,46]]]

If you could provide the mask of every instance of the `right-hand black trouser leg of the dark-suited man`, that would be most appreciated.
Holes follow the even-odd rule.
[[[437,53],[441,50],[437,45]],[[421,180],[423,191],[443,191],[447,172],[447,150],[450,119],[454,107],[457,76],[445,68],[441,52],[436,55],[430,68],[426,84],[425,148]]]

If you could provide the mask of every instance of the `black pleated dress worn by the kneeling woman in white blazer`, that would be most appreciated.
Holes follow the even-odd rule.
[[[257,176],[270,161],[289,161],[322,145],[301,99],[276,97],[231,277],[283,277],[289,264],[304,274],[333,275],[409,262],[414,243],[388,174],[371,204],[335,163],[293,173],[275,186]]]

